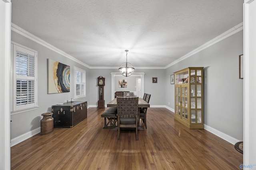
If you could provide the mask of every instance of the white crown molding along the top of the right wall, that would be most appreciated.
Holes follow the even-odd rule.
[[[220,42],[220,41],[222,41],[222,40],[224,40],[224,39],[226,39],[228,37],[230,37],[231,35],[234,35],[235,33],[238,33],[239,31],[242,31],[243,29],[244,29],[244,23],[243,22],[239,23],[238,25],[232,27],[228,31],[226,31],[226,32],[222,33],[221,35],[219,35],[218,37],[215,37],[214,39],[212,39],[212,40],[208,41],[207,43],[201,45],[200,47],[194,49],[193,51],[189,52],[188,54],[180,57],[176,61],[168,64],[164,68],[168,68],[168,67],[170,67],[170,66],[172,66],[174,64],[177,64],[180,61],[182,61],[182,60],[184,60],[184,59],[186,59],[188,57],[191,57],[192,55],[194,55],[196,53],[199,53],[200,51],[202,51],[202,50],[204,50],[204,49],[206,49],[206,48],[208,48],[208,47],[210,47],[210,46],[212,46],[212,45],[214,45],[214,44],[216,44],[216,43],[218,43],[218,42]]]

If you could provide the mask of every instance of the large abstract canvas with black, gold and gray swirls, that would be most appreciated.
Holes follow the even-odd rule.
[[[47,61],[47,93],[70,92],[70,66],[52,59],[48,59]]]

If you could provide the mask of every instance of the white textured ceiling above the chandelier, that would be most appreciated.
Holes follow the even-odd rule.
[[[12,23],[90,67],[165,67],[243,21],[243,0],[12,0]]]

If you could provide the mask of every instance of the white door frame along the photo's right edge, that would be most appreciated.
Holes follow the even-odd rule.
[[[256,157],[256,0],[244,0],[244,165],[255,165]],[[255,168],[255,167],[253,167]]]

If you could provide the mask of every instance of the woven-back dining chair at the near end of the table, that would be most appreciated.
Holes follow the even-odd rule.
[[[121,127],[135,128],[138,140],[138,101],[138,97],[116,97],[118,140]]]

